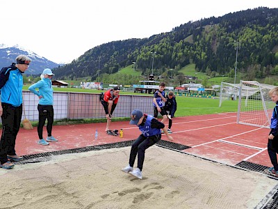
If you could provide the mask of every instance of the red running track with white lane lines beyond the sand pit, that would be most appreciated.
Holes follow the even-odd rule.
[[[17,155],[31,155],[129,141],[136,139],[140,134],[138,127],[129,125],[128,121],[111,123],[111,129],[124,130],[123,138],[107,135],[105,127],[106,123],[54,126],[52,134],[58,142],[51,142],[49,146],[37,144],[36,128],[21,129],[15,149]],[[96,129],[99,132],[97,140],[95,140]],[[236,113],[173,118],[171,130],[174,143],[190,146],[186,150],[181,150],[184,153],[229,165],[246,161],[266,167],[272,166],[267,151],[270,130],[237,124]],[[44,137],[47,137],[45,127]],[[165,134],[162,139],[167,141]]]

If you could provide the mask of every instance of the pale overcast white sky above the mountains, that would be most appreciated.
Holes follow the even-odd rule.
[[[107,42],[149,38],[189,21],[260,6],[278,8],[278,1],[0,1],[0,45],[19,45],[55,63],[70,63]]]

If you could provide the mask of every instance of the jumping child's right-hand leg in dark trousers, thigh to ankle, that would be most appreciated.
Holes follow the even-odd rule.
[[[161,134],[156,134],[155,136],[148,137],[148,139],[142,141],[142,143],[138,146],[138,169],[142,171],[144,160],[145,160],[145,150],[149,148],[150,146],[153,146],[161,140]]]

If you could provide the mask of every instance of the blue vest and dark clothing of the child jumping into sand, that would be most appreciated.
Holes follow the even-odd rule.
[[[165,125],[157,121],[153,116],[145,115],[145,122],[138,125],[138,127],[142,134],[140,134],[131,146],[129,165],[133,167],[136,155],[138,154],[137,167],[142,171],[145,160],[145,150],[161,140],[161,128],[165,127]]]

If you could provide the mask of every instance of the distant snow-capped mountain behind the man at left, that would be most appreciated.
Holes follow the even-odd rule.
[[[20,55],[24,54],[32,60],[28,70],[26,70],[26,75],[40,75],[42,70],[45,68],[56,68],[58,67],[58,63],[54,63],[49,61],[48,59],[44,58],[43,56],[39,56],[34,52],[29,50],[23,49],[18,45],[13,47],[8,47],[6,45],[0,44],[0,69],[3,67],[8,67],[12,63],[15,63],[15,58]]]

